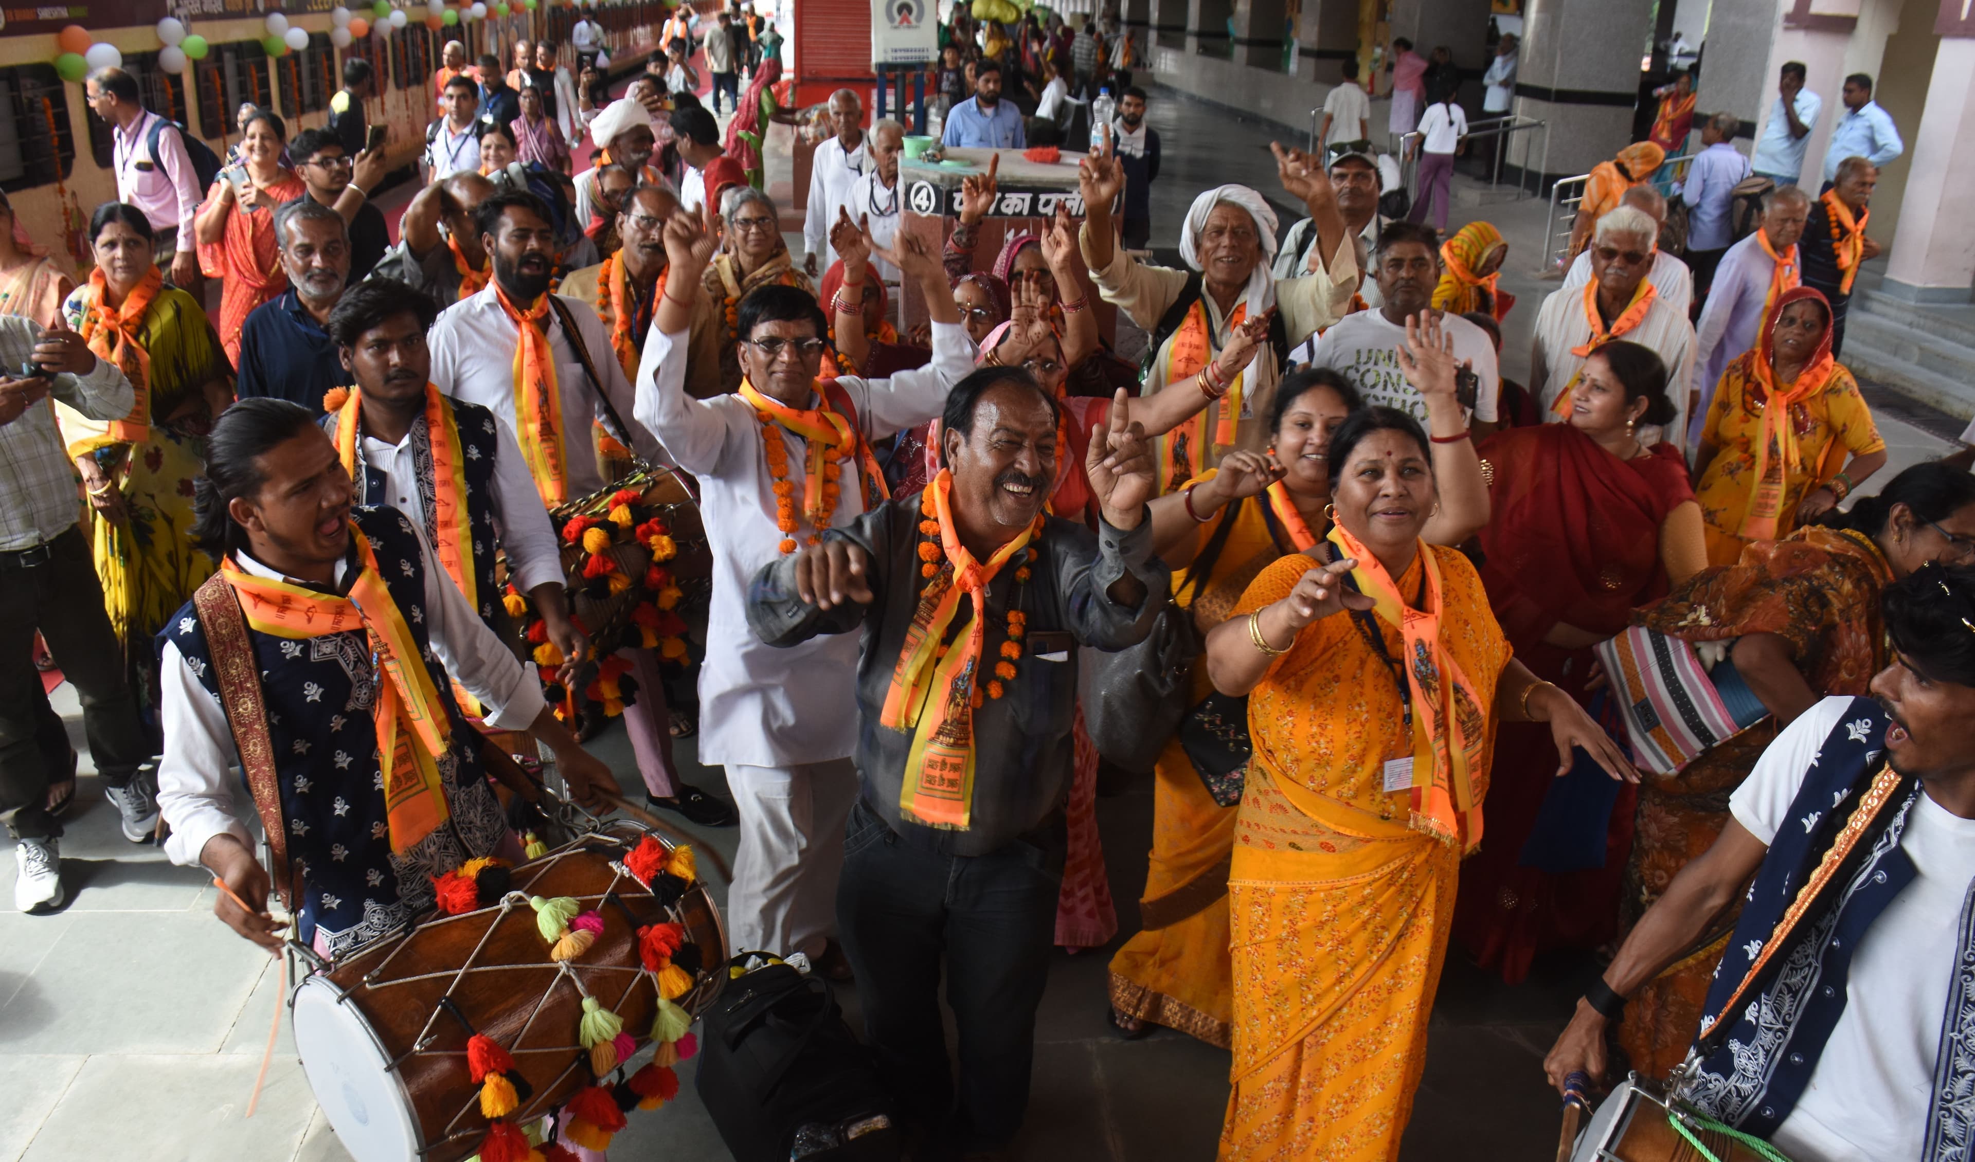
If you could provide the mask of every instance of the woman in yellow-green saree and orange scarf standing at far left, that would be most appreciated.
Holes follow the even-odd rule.
[[[199,304],[154,264],[144,211],[109,201],[89,221],[97,266],[63,304],[63,322],[136,389],[122,420],[55,408],[89,497],[89,525],[111,625],[156,702],[164,621],[213,574],[192,546],[192,481],[205,472],[205,432],[233,402],[233,369]],[[229,288],[231,290],[231,288]]]

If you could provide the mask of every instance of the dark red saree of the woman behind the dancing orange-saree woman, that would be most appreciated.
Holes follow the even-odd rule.
[[[1687,464],[1671,444],[1620,460],[1570,424],[1509,428],[1479,452],[1493,479],[1493,519],[1481,531],[1489,606],[1515,657],[1586,704],[1592,651],[1562,649],[1542,637],[1558,621],[1618,633],[1635,606],[1667,592],[1659,527],[1695,497]],[[1462,868],[1454,937],[1511,984],[1527,977],[1537,953],[1592,949],[1618,929],[1633,789],[1623,787],[1612,809],[1604,868],[1550,874],[1523,866],[1521,854],[1554,775],[1548,726],[1497,728],[1489,836]]]

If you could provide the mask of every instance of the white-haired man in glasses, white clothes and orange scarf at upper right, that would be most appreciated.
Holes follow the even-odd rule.
[[[1651,448],[1659,438],[1687,444],[1687,416],[1693,414],[1689,385],[1695,375],[1695,326],[1687,310],[1659,298],[1647,276],[1653,266],[1653,239],[1659,225],[1643,209],[1620,205],[1598,219],[1588,254],[1592,278],[1582,288],[1564,286],[1542,300],[1537,339],[1529,355],[1529,391],[1562,420],[1570,391],[1584,371],[1584,357],[1600,343],[1629,339],[1651,347],[1667,365],[1667,399],[1679,414],[1663,436],[1649,428],[1639,440]]]

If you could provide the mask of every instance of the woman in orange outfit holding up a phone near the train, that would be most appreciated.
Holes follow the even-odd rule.
[[[194,219],[199,243],[199,270],[225,280],[219,296],[219,341],[235,365],[241,357],[241,327],[253,308],[288,290],[275,241],[275,211],[282,201],[308,193],[294,170],[282,164],[288,126],[265,109],[247,120],[241,142],[245,162],[219,172]]]

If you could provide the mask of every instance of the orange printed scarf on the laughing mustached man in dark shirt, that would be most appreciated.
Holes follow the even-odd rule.
[[[966,831],[974,811],[974,706],[986,677],[988,586],[1003,564],[1041,537],[1043,521],[1037,517],[982,564],[954,531],[952,489],[950,470],[940,470],[926,485],[946,562],[918,594],[918,610],[899,649],[879,724],[912,732],[905,783],[899,787],[899,815],[924,827]],[[974,621],[966,637],[948,647],[946,637],[962,594],[970,598]],[[934,690],[940,690],[938,698],[932,696]]]

